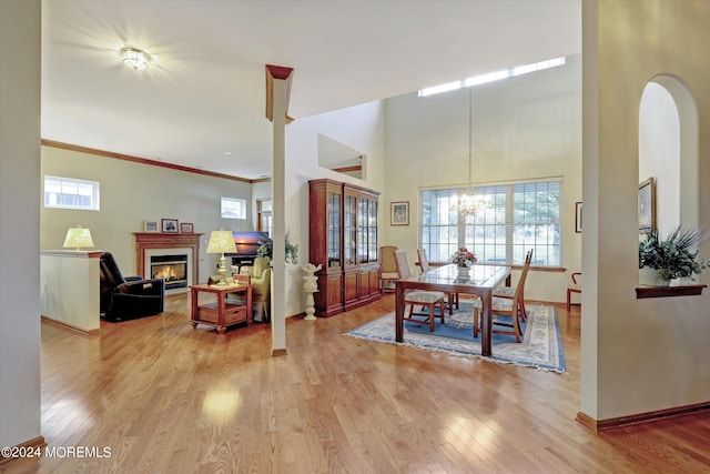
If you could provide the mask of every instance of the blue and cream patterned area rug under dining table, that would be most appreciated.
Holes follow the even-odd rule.
[[[446,314],[446,323],[442,324],[437,319],[433,333],[429,332],[428,325],[405,321],[402,343],[395,342],[394,312],[363,324],[345,335],[453,355],[479,357],[500,364],[567,373],[557,310],[555,306],[544,304],[528,304],[526,310],[528,319],[524,324],[523,342],[516,343],[513,335],[494,334],[490,357],[480,355],[480,333],[476,339],[473,334],[473,304],[466,302],[462,302],[453,315]]]

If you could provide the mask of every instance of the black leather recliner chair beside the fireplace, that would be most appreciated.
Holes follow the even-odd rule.
[[[143,280],[141,276],[123,276],[111,252],[100,259],[101,317],[124,321],[163,312],[165,281]]]

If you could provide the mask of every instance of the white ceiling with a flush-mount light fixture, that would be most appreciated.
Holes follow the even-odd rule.
[[[43,0],[42,138],[260,179],[265,64],[298,120],[580,51],[579,0]]]

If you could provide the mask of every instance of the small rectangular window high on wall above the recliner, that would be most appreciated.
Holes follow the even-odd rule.
[[[98,181],[73,178],[44,177],[44,208],[99,211]]]

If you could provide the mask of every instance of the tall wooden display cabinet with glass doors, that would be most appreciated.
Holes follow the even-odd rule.
[[[310,181],[310,259],[322,264],[315,314],[332,316],[378,299],[379,193],[323,179]]]

